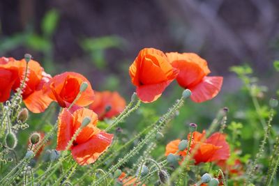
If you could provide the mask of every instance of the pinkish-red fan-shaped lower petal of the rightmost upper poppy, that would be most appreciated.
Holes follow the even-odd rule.
[[[204,77],[202,82],[189,88],[192,91],[190,98],[194,102],[204,102],[214,98],[220,91],[223,77]]]

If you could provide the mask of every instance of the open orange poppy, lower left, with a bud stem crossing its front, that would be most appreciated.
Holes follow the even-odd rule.
[[[112,144],[114,136],[98,129],[96,126],[98,116],[90,109],[77,109],[73,114],[68,109],[63,109],[59,115],[56,150],[66,150],[68,142],[82,125],[85,117],[91,118],[90,123],[82,128],[73,145],[70,146],[73,158],[80,165],[95,162]]]

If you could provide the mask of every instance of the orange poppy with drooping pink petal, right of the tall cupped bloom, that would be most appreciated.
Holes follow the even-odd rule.
[[[183,88],[190,89],[190,98],[194,102],[211,100],[219,93],[223,77],[207,76],[210,70],[204,59],[194,53],[170,52],[166,55],[172,66],[179,69],[176,81]]]

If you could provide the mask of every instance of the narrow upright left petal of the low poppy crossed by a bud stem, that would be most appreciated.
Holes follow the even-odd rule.
[[[58,118],[56,150],[66,150],[68,142],[73,137],[73,115],[68,109],[63,109]]]

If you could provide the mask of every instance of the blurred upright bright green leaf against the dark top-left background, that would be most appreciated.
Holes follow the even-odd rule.
[[[45,17],[43,17],[43,21],[41,24],[43,35],[47,37],[52,36],[54,31],[56,30],[58,22],[59,22],[58,11],[55,9],[49,10],[45,14]]]

